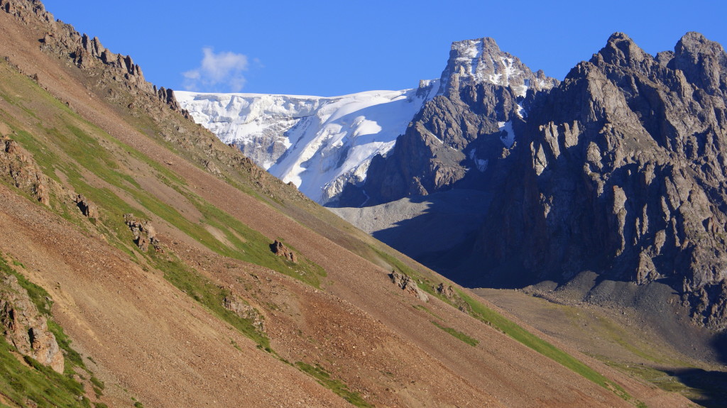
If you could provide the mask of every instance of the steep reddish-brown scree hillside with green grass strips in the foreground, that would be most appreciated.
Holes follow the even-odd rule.
[[[39,1],[0,9],[0,404],[688,406],[345,224]]]

